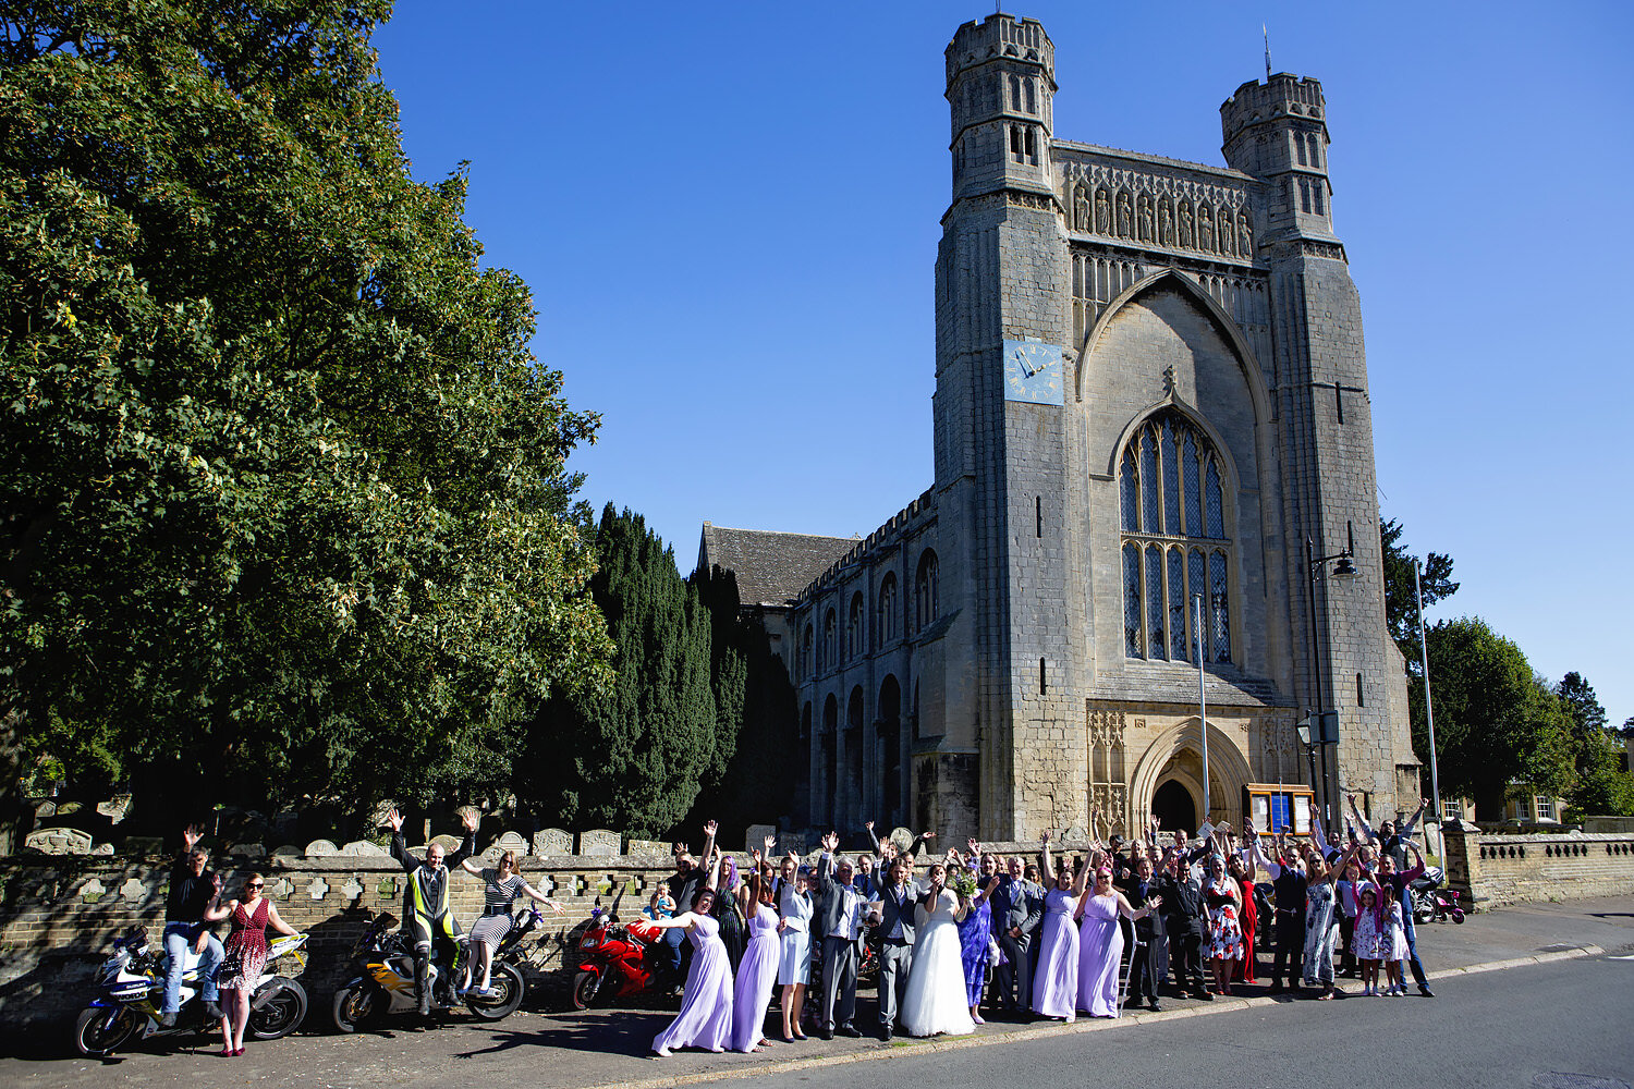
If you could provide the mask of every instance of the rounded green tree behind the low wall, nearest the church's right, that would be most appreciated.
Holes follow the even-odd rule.
[[[1572,717],[1526,655],[1485,620],[1444,620],[1426,633],[1441,790],[1502,820],[1511,784],[1564,793],[1574,779]],[[1423,687],[1410,686],[1413,748],[1428,761]]]

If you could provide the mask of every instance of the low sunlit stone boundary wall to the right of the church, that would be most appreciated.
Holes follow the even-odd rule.
[[[1634,833],[1492,836],[1446,826],[1448,883],[1480,908],[1634,895]]]

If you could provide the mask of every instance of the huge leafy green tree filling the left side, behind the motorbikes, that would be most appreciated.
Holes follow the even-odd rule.
[[[605,674],[596,418],[410,176],[384,0],[8,3],[0,715],[137,803],[430,795]],[[15,795],[10,797],[15,813]]]

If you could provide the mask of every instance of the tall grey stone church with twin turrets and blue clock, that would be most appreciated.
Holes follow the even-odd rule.
[[[946,73],[935,483],[758,602],[809,745],[797,820],[1129,834],[1208,797],[1240,825],[1248,784],[1310,779],[1317,709],[1328,793],[1417,798],[1320,85],[1237,88],[1222,168],[1059,139],[1033,20],[961,26]]]

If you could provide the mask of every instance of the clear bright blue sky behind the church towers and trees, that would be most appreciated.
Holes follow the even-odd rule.
[[[1056,134],[1221,165],[1219,104],[1322,80],[1363,297],[1379,503],[1477,614],[1634,715],[1634,5],[1007,5]],[[399,0],[376,44],[417,176],[471,160],[487,261],[605,415],[585,498],[690,570],[704,519],[866,534],[931,483],[943,47],[964,3]]]

